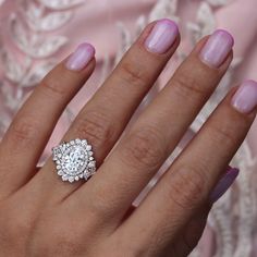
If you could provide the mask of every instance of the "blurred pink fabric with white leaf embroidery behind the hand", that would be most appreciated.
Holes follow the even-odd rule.
[[[78,44],[88,41],[96,47],[97,69],[63,113],[49,146],[57,144],[142,28],[162,17],[178,22],[182,42],[132,123],[199,38],[216,28],[228,29],[235,38],[234,61],[192,124],[188,135],[194,135],[230,87],[247,78],[257,79],[256,10],[257,0],[0,0],[0,136],[42,76]],[[49,146],[41,162],[50,154]],[[137,204],[182,148],[183,143]],[[241,169],[241,174],[215,205],[199,246],[191,256],[257,256],[256,157],[257,122],[231,163]]]

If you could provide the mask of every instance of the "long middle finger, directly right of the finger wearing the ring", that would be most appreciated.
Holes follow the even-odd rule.
[[[206,46],[205,38],[139,117],[101,166],[98,174],[91,179],[91,183],[74,194],[74,198],[79,203],[84,199],[85,208],[89,205],[98,212],[110,211],[113,222],[119,222],[124,215],[123,211],[130,207],[175,148],[231,62],[231,36],[224,32],[217,32],[209,40],[213,40],[213,37],[221,37],[218,48],[220,45],[227,45],[227,52],[222,53],[220,65],[207,65],[199,58],[205,49],[203,47]],[[87,203],[84,196],[89,192],[94,200]],[[83,208],[82,205],[81,207]]]

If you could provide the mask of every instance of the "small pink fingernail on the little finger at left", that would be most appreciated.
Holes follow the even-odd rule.
[[[66,69],[72,71],[83,70],[95,56],[95,48],[87,44],[81,44],[66,61]]]

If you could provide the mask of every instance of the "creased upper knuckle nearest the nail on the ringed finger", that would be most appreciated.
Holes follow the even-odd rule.
[[[127,84],[132,85],[144,85],[148,81],[148,74],[144,68],[138,68],[138,64],[135,65],[133,62],[123,61],[120,66],[121,77]]]

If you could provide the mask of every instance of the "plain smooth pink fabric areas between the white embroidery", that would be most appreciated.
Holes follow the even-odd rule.
[[[73,20],[56,34],[65,35],[70,38],[70,44],[63,47],[56,56],[58,60],[63,59],[82,41],[91,42],[97,50],[97,72],[90,82],[82,89],[79,95],[71,102],[71,108],[76,113],[87,101],[99,85],[100,71],[105,57],[114,58],[120,48],[120,34],[117,23],[122,22],[133,32],[135,21],[142,14],[147,14],[156,3],[156,0],[87,0],[75,11]],[[4,24],[7,15],[14,10],[14,1],[7,1],[0,9],[1,25]],[[180,16],[182,28],[181,47],[187,52],[187,33],[184,23],[194,19],[195,9],[198,1],[180,2]],[[243,65],[236,71],[236,81],[240,83],[245,78],[257,79],[257,1],[256,0],[234,0],[231,4],[218,9],[216,12],[219,28],[229,29],[235,38],[235,57],[243,58]],[[58,125],[54,136],[49,145],[56,144],[66,128],[65,120]],[[257,122],[255,122],[248,140],[254,152],[257,152]],[[201,240],[204,245],[203,256],[212,256],[215,252],[213,233],[207,228]],[[243,256],[242,256],[243,257]]]

